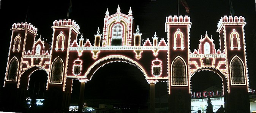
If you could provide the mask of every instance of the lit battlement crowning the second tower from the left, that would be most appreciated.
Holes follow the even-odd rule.
[[[64,20],[55,20],[52,24],[53,27],[57,27],[57,26],[73,26],[77,31],[79,31],[80,27],[79,25],[76,23],[76,21],[68,19],[68,21],[66,19]]]

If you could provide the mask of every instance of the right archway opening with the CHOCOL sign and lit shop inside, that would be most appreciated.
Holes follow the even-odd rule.
[[[201,110],[205,113],[207,100],[211,99],[213,112],[216,112],[220,105],[224,107],[224,92],[226,81],[215,71],[202,69],[191,76],[191,113],[198,113]]]

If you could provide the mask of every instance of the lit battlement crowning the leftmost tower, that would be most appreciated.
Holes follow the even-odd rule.
[[[37,34],[37,28],[35,26],[33,26],[32,24],[30,23],[13,23],[13,27],[11,30],[14,30],[14,29],[30,29],[31,31],[35,32],[35,34]]]

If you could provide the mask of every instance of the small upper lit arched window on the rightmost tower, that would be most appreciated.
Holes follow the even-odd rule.
[[[235,37],[234,37],[234,35],[235,35]],[[230,34],[230,49],[233,50],[235,48],[238,50],[241,49],[240,36],[239,36],[239,33],[236,32],[235,29],[233,29],[233,31]]]

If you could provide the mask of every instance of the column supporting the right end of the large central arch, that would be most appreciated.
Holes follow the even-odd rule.
[[[155,84],[157,79],[147,79],[150,85],[149,102],[150,102],[150,113],[155,113]]]

